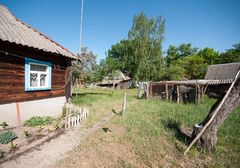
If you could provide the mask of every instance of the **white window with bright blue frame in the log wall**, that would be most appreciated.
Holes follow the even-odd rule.
[[[25,59],[25,91],[51,89],[51,70],[49,62]]]

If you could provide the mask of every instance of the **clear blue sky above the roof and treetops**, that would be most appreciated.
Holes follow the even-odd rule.
[[[77,53],[81,0],[0,0],[20,20]],[[84,0],[83,45],[104,58],[127,38],[133,16],[166,19],[164,49],[192,43],[225,51],[240,42],[239,0]]]

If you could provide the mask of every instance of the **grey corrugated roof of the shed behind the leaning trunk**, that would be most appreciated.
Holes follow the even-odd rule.
[[[240,62],[210,65],[205,75],[205,79],[220,80],[223,82],[233,80],[239,68]]]

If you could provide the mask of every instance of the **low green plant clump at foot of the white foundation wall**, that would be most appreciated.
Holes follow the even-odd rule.
[[[50,125],[54,121],[53,117],[32,117],[29,120],[24,122],[24,126],[35,127],[35,126],[43,126],[43,125]]]

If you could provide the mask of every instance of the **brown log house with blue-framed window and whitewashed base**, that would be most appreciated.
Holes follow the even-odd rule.
[[[0,123],[60,113],[70,97],[69,50],[0,5]]]

